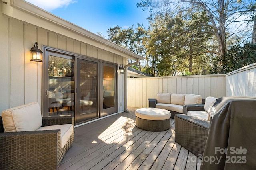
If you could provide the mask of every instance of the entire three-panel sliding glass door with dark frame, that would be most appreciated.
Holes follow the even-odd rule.
[[[44,51],[43,116],[74,116],[75,125],[117,112],[117,64]]]

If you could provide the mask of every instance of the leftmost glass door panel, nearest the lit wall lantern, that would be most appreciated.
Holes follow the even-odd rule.
[[[48,116],[74,115],[74,59],[50,53],[46,84]]]

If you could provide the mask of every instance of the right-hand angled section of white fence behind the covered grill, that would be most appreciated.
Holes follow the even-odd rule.
[[[226,96],[256,97],[256,63],[226,74]]]

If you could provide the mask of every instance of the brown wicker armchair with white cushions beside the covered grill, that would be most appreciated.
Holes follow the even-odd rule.
[[[210,108],[217,98],[208,96],[204,104],[183,106],[183,114],[176,114],[175,141],[194,155],[202,157],[210,126]]]

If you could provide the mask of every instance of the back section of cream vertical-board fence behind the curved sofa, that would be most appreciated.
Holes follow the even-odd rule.
[[[148,99],[157,93],[199,94],[202,98],[226,95],[225,74],[128,78],[127,106],[148,107]]]

